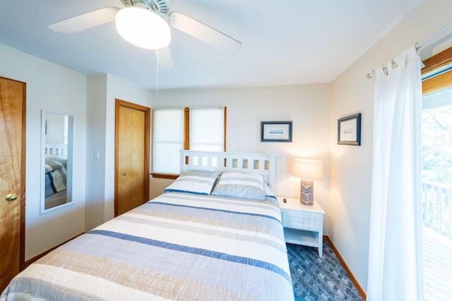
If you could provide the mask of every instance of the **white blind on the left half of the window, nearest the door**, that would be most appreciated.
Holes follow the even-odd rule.
[[[153,110],[153,173],[179,173],[184,149],[184,109]]]

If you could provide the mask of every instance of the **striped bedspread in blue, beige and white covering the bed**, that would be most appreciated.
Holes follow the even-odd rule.
[[[62,245],[0,300],[294,300],[278,201],[169,192]]]

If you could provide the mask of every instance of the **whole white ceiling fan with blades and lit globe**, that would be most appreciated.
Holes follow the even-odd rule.
[[[167,0],[120,0],[124,8],[108,6],[48,25],[49,29],[73,34],[115,20],[117,31],[127,42],[153,49],[162,69],[174,68],[168,44],[169,25],[214,47],[237,53],[242,43],[179,11],[169,11]]]

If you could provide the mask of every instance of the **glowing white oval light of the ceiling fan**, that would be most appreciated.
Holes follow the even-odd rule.
[[[168,23],[157,13],[138,5],[118,11],[116,30],[127,42],[145,49],[162,49],[171,42]]]

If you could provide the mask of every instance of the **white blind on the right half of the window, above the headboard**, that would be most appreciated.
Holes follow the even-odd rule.
[[[190,149],[225,151],[225,109],[190,108]]]

